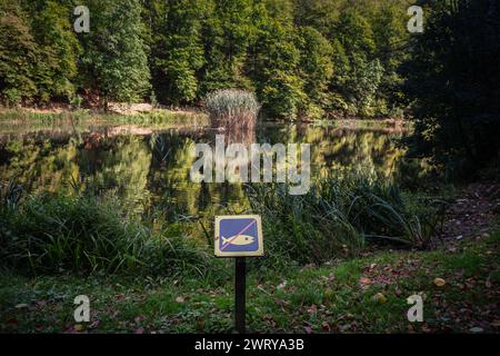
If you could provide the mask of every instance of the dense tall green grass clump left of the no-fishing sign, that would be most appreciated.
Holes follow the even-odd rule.
[[[0,207],[0,265],[43,274],[133,271],[204,274],[209,254],[180,231],[153,233],[113,201],[89,195],[19,200],[8,188]]]

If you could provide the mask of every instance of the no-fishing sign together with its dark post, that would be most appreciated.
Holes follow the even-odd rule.
[[[234,258],[234,326],[244,334],[247,257],[263,256],[262,222],[260,216],[216,217],[217,257]]]

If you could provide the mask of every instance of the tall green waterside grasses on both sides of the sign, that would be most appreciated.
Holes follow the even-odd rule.
[[[263,217],[267,257],[256,265],[287,269],[356,257],[372,246],[429,247],[442,216],[429,199],[362,174],[321,179],[303,196],[283,185],[248,187],[250,211]],[[208,231],[159,215],[132,216],[111,196],[78,189],[70,196],[23,196],[11,182],[0,195],[1,266],[27,274],[64,270],[207,276]],[[199,231],[188,235],[186,231]],[[207,240],[207,236],[208,239]]]

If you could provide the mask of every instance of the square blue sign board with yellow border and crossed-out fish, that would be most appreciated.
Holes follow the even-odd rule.
[[[217,257],[263,256],[262,222],[258,215],[216,217]]]

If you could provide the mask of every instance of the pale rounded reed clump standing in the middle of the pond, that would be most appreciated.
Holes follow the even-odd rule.
[[[260,106],[252,92],[238,89],[223,89],[210,92],[206,107],[212,123],[226,126],[230,122],[254,121]]]

